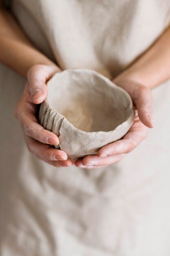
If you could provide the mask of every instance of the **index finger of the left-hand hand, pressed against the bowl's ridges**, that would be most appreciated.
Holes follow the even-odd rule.
[[[18,120],[26,135],[33,137],[34,139],[51,145],[58,145],[59,139],[57,135],[44,129],[31,112],[23,111],[17,115]]]

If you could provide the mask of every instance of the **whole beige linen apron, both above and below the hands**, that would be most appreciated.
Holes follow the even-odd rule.
[[[13,0],[29,39],[63,70],[113,78],[170,22],[169,0]],[[155,128],[118,164],[55,168],[29,153],[13,117],[25,79],[0,64],[1,256],[170,255],[170,82]]]

